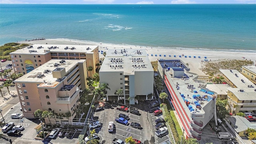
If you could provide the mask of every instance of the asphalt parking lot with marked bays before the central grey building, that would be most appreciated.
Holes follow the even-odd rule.
[[[146,106],[147,107],[147,106]],[[93,119],[99,120],[101,126],[96,128],[96,133],[100,138],[100,142],[102,144],[111,144],[114,138],[121,139],[125,141],[126,138],[132,136],[137,140],[140,140],[144,144],[161,144],[162,142],[169,141],[168,134],[163,136],[156,136],[156,129],[154,128],[154,121],[158,118],[163,118],[161,116],[154,116],[152,111],[158,108],[147,109],[147,110],[139,110],[140,116],[131,114],[130,112],[122,112],[120,110],[116,110],[116,107],[106,108],[105,110],[95,112]],[[151,111],[151,112],[150,112]],[[129,116],[128,124],[120,124],[115,121],[115,118],[118,115],[126,114]],[[114,122],[114,131],[112,133],[108,132],[108,123]],[[131,122],[139,123],[142,129],[133,128],[130,126]]]

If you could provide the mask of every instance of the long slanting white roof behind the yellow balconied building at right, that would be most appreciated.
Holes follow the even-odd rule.
[[[220,72],[230,80],[237,88],[248,88],[248,86],[255,86],[248,78],[242,75],[237,70],[222,70]]]

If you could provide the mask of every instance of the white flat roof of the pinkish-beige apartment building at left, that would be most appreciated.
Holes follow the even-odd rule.
[[[42,86],[48,86],[53,87],[56,86],[59,81],[58,78],[53,78],[52,71],[56,68],[65,68],[66,72],[70,71],[78,62],[84,62],[85,60],[65,60],[65,62],[60,63],[60,60],[50,60],[43,64],[42,66],[39,66],[38,68],[35,68],[31,72],[25,74],[24,76],[16,79],[15,83],[20,82],[26,82],[26,83],[40,83],[45,82],[43,84],[40,84]],[[58,66],[54,66],[54,64],[59,64]],[[45,72],[47,71],[47,73]],[[48,84],[47,84],[48,83]]]

